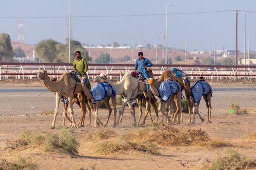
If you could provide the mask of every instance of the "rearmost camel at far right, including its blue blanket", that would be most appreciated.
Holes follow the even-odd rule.
[[[204,87],[201,86],[201,88],[193,88],[194,85],[196,85],[197,83],[203,85]],[[201,89],[201,92],[200,92]],[[208,90],[208,91],[207,91]],[[209,85],[204,77],[199,77],[199,80],[197,82],[195,82],[192,87],[191,87],[191,91],[192,91],[192,95],[193,95],[193,99],[192,99],[192,104],[193,104],[193,123],[195,123],[195,113],[198,114],[200,119],[201,118],[200,114],[199,114],[199,104],[200,104],[200,100],[203,96],[203,99],[206,103],[206,107],[207,107],[207,121],[206,123],[212,123],[212,119],[211,119],[211,111],[212,111],[212,104],[211,104],[211,97],[212,97],[212,87],[211,85]],[[196,97],[196,93],[199,92],[200,94]],[[197,99],[196,99],[197,98]],[[197,103],[197,104],[196,104]]]

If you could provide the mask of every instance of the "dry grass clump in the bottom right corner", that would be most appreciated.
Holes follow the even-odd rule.
[[[210,166],[205,165],[202,170],[247,170],[256,169],[256,160],[249,159],[240,153],[229,149],[227,156],[217,156],[217,160]]]

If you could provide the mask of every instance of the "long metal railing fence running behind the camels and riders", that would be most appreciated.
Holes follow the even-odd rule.
[[[0,62],[0,80],[8,78],[32,79],[35,78],[40,69],[47,69],[48,75],[59,77],[65,72],[72,70],[71,63],[12,63]],[[212,65],[153,65],[155,76],[159,76],[165,69],[179,68],[190,76],[190,79],[198,79],[204,76],[206,79],[256,79],[256,66],[212,66]],[[106,73],[110,79],[121,79],[121,77],[134,69],[134,64],[89,64],[88,76],[93,78],[100,73]]]

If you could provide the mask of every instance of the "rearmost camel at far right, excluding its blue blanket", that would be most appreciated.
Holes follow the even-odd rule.
[[[204,77],[199,77],[199,80],[205,81]],[[208,93],[203,95],[203,99],[204,99],[204,101],[206,103],[206,107],[207,107],[207,121],[206,121],[206,123],[212,123],[212,119],[211,119],[211,111],[212,111],[211,97],[212,97],[211,90],[209,90]],[[201,120],[203,118],[199,114],[200,101],[196,104],[196,102],[194,100],[192,100],[192,104],[193,104],[193,123],[195,123],[195,113],[198,114],[198,116]]]

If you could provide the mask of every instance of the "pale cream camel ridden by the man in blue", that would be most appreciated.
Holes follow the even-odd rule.
[[[150,77],[153,77],[153,73],[151,71],[150,68],[147,68],[147,71],[150,75]],[[108,80],[107,76],[105,74],[100,74],[98,76],[96,76],[94,78],[94,81],[97,81],[97,79],[99,78],[104,78],[106,80],[107,83],[111,84],[110,81]],[[142,124],[145,124],[146,121],[146,117],[149,113],[149,102],[151,102],[151,104],[153,105],[156,115],[158,117],[158,110],[157,110],[157,104],[156,104],[156,100],[151,100],[152,99],[152,92],[145,92],[146,91],[146,85],[144,82],[138,81],[137,78],[133,77],[131,75],[131,73],[126,73],[121,81],[117,84],[111,84],[114,86],[114,88],[116,89],[116,94],[122,95],[122,97],[124,98],[124,102],[122,104],[122,106],[120,107],[120,109],[118,110],[118,119],[117,119],[117,124],[119,124],[119,120],[121,123],[122,120],[122,115],[123,115],[123,110],[126,106],[126,104],[128,104],[131,114],[133,116],[133,126],[139,125],[139,121],[140,118],[142,116],[142,99],[141,97],[138,97],[140,95],[143,95],[146,98],[146,111],[145,111],[145,117],[143,120]],[[136,122],[136,118],[135,118],[135,109],[134,106],[132,106],[130,99],[134,99],[137,98],[138,99],[138,106],[139,106],[139,119],[138,119],[138,123]],[[153,119],[151,117],[151,121],[153,122]]]

